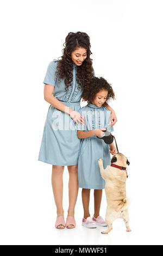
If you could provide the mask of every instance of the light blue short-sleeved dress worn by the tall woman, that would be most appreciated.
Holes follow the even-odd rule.
[[[43,83],[54,86],[53,96],[66,106],[77,111],[83,88],[78,89],[76,81],[77,65],[73,64],[73,82],[65,91],[64,79],[59,83],[55,76],[58,60],[49,63]],[[69,114],[49,106],[39,152],[39,161],[56,166],[71,166],[78,164],[80,139],[77,136],[77,124]]]

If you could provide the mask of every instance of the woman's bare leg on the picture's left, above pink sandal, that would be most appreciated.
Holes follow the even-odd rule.
[[[64,166],[52,165],[52,188],[53,188],[55,204],[57,207],[57,217],[64,216],[64,209],[62,205],[63,172],[64,172]],[[62,228],[63,225],[59,225],[58,227]]]

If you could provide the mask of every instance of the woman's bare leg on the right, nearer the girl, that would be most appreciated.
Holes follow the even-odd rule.
[[[69,173],[69,182],[68,182],[68,196],[69,196],[69,207],[68,215],[74,217],[74,208],[76,206],[77,197],[78,197],[78,165],[67,166]],[[72,225],[68,225],[72,227]]]

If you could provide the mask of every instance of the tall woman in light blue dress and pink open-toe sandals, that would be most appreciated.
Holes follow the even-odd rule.
[[[54,59],[49,63],[43,83],[44,98],[49,106],[39,161],[52,164],[52,188],[57,206],[55,227],[75,228],[74,208],[78,196],[78,151],[80,139],[77,136],[77,124],[85,124],[84,117],[78,113],[84,87],[89,86],[94,76],[90,55],[90,38],[86,33],[68,33],[65,48],[60,60]],[[115,112],[111,111],[114,125],[117,121]],[[69,172],[68,195],[69,207],[65,224],[62,207],[64,166]]]

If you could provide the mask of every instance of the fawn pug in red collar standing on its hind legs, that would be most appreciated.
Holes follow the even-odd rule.
[[[102,231],[102,234],[108,234],[112,230],[112,222],[117,218],[122,218],[126,224],[126,231],[131,231],[128,214],[130,198],[126,197],[126,167],[130,163],[127,157],[121,153],[116,153],[112,156],[110,166],[107,166],[106,169],[103,167],[102,159],[97,161],[102,178],[105,180],[107,202],[105,222],[108,225],[108,229]]]

